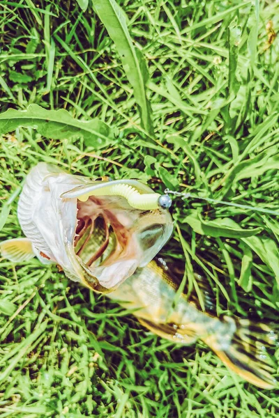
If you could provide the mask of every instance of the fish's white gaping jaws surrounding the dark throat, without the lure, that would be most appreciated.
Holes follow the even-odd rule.
[[[139,183],[128,182],[133,187]],[[101,188],[102,183],[107,187],[107,182],[94,182],[64,173],[51,164],[39,163],[27,176],[17,214],[37,256],[40,254],[61,266],[70,279],[94,291],[107,293],[123,283],[139,266],[151,261],[169,239],[173,226],[168,210],[136,209],[125,197],[102,196],[100,190],[98,196],[90,196],[94,188]],[[124,180],[110,183],[125,184]],[[138,189],[142,193],[153,193],[141,183]],[[83,202],[78,197],[84,191],[90,193]],[[87,218],[93,224],[98,217],[104,219],[107,231],[113,230],[115,246],[102,261],[94,260],[88,265],[76,251],[77,226]],[[92,235],[95,237],[96,233]],[[97,238],[93,243],[91,239],[91,245],[98,253]],[[104,252],[106,245],[103,247]]]

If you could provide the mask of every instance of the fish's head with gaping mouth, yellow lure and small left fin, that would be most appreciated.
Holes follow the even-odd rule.
[[[40,162],[27,174],[17,206],[25,237],[1,242],[0,251],[13,262],[37,256],[56,263],[73,281],[107,293],[169,240],[170,204],[137,180],[92,180]],[[97,223],[105,231],[98,249]]]

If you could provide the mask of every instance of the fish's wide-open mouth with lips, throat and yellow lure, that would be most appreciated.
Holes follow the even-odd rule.
[[[158,195],[145,185],[140,185],[143,196],[121,180],[96,183],[75,187],[61,197],[77,202],[73,247],[68,251],[72,263],[86,286],[106,293],[149,263],[173,226],[169,212],[156,203]]]

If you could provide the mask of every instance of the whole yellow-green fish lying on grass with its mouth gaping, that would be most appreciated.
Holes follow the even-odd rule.
[[[187,288],[177,298],[184,265],[179,269],[177,260],[166,261],[158,255],[173,228],[166,196],[154,194],[135,180],[90,180],[42,164],[27,176],[18,204],[27,238],[0,243],[2,256],[22,262],[36,255],[43,263],[54,262],[70,279],[128,309],[154,334],[183,346],[202,341],[244,380],[262,389],[278,387],[273,378],[275,364],[267,352],[278,346],[272,327],[246,318],[217,316],[213,292],[199,274],[195,278],[204,309]],[[113,194],[114,185],[126,186]],[[133,196],[128,196],[127,187],[135,189]],[[24,245],[29,249],[22,249]],[[133,268],[127,268],[129,257]],[[73,258],[86,272],[83,277],[77,274]],[[98,268],[107,269],[107,281]]]

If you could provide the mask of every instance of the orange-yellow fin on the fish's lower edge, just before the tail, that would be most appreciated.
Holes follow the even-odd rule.
[[[137,318],[144,327],[148,328],[154,334],[161,336],[162,338],[168,339],[175,343],[182,343],[184,345],[190,345],[197,341],[199,336],[195,330],[190,327],[179,327],[176,324],[164,324],[164,323],[153,323],[151,320],[143,318]]]

